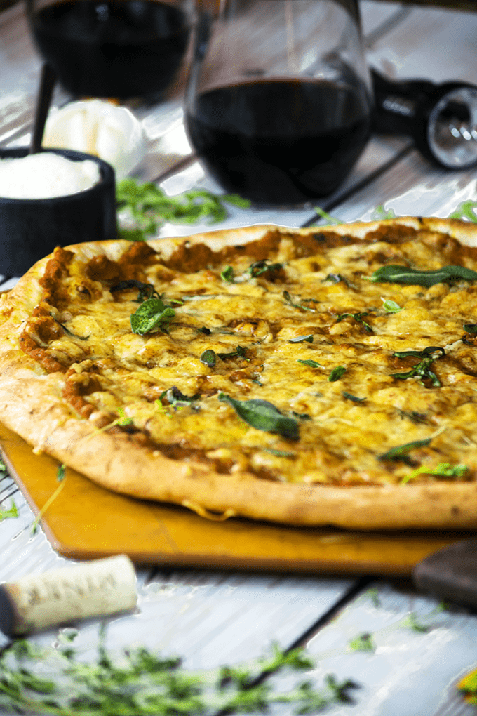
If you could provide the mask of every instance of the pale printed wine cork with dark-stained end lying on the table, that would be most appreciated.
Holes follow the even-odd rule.
[[[119,555],[27,575],[0,585],[0,629],[7,636],[134,609],[136,573]]]

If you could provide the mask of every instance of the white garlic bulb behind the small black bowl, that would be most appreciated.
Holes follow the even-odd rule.
[[[52,110],[42,144],[95,155],[111,164],[119,179],[129,174],[146,153],[141,123],[126,107],[103,100],[81,100]]]

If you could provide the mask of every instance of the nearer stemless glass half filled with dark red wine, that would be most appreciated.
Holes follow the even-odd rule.
[[[187,132],[212,176],[255,205],[333,193],[368,141],[355,0],[200,3]]]

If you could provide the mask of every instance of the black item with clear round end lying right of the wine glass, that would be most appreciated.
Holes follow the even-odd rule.
[[[466,82],[394,81],[371,69],[378,134],[413,137],[418,150],[446,169],[477,165],[477,87]]]

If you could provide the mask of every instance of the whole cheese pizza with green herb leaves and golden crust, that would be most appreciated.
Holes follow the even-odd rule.
[[[202,516],[477,527],[477,227],[56,248],[0,303],[0,420]]]

